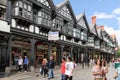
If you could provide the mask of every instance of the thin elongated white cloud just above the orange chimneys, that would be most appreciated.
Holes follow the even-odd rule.
[[[112,14],[106,14],[106,13],[100,13],[100,12],[95,12],[94,16],[96,16],[98,19],[114,18],[114,15],[112,15]]]

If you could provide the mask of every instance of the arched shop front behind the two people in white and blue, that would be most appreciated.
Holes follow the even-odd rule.
[[[30,41],[23,37],[16,37],[11,41],[11,70],[16,70],[18,68],[17,65],[19,56],[21,56],[23,59],[25,56],[27,56],[29,60],[32,56]]]

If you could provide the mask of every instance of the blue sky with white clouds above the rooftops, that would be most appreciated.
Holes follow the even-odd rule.
[[[59,4],[65,0],[53,0]],[[87,21],[91,23],[91,16],[97,17],[97,25],[104,25],[111,35],[116,34],[120,45],[120,0],[69,0],[75,15],[85,12]]]

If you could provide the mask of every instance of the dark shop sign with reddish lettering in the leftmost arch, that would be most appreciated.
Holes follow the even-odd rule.
[[[27,43],[27,42],[21,42],[21,41],[12,41],[11,45],[13,47],[26,47],[26,48],[30,48],[31,44]]]

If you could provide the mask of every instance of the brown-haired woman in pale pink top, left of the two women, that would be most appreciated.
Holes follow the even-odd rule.
[[[102,80],[103,70],[101,60],[97,59],[95,61],[95,65],[93,66],[92,72],[94,80]]]

